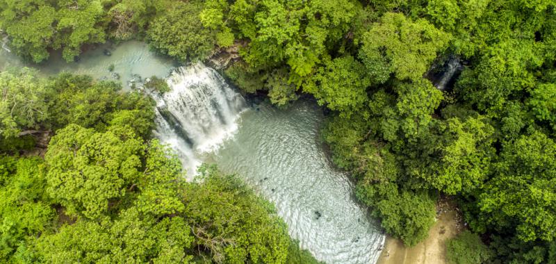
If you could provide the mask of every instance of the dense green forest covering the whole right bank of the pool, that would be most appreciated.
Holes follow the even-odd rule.
[[[556,230],[555,8],[238,0],[206,1],[201,17],[241,44],[227,69],[238,87],[278,105],[305,92],[333,110],[323,138],[386,231],[415,245],[436,198],[455,195],[490,261],[541,263]],[[427,77],[453,58],[464,70],[441,92]]]

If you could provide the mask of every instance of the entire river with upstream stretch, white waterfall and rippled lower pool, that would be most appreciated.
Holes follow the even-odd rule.
[[[0,51],[0,69],[22,66],[13,53]],[[156,135],[174,148],[190,174],[202,162],[237,173],[275,204],[290,235],[320,261],[377,261],[384,235],[354,200],[347,175],[330,163],[319,137],[324,116],[314,101],[303,99],[286,110],[254,104],[215,70],[200,63],[179,67],[142,42],[104,45],[77,63],[54,54],[32,67],[47,76],[67,71],[120,81],[125,90],[149,76],[166,78],[172,91],[153,95]]]

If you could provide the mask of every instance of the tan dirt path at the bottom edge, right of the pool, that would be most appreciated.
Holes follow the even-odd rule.
[[[377,264],[445,264],[445,242],[461,231],[461,215],[448,202],[437,207],[438,220],[425,241],[408,248],[401,240],[388,236]]]

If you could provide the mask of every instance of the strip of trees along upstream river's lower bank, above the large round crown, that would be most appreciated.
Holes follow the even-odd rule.
[[[129,125],[148,137],[154,127],[154,101],[138,92],[123,94],[113,82],[93,82],[89,76],[60,74],[37,77],[32,69],[0,73],[0,138],[55,131],[67,124],[105,131],[111,124]]]

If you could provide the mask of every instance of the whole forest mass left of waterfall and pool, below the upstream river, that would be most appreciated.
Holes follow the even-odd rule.
[[[186,182],[181,161],[150,136],[151,99],[87,76],[35,74],[0,74],[3,142],[54,133],[44,160],[17,146],[0,154],[1,262],[316,263],[236,176],[205,166]]]

